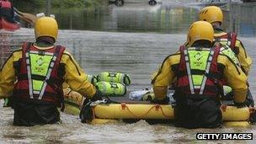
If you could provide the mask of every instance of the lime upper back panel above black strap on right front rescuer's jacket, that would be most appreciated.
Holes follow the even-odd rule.
[[[190,69],[205,70],[210,51],[188,51]]]

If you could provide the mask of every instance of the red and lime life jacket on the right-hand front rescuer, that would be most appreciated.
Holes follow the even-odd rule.
[[[195,98],[218,98],[222,78],[217,67],[220,47],[198,48],[181,46],[179,67],[175,73],[175,93]]]

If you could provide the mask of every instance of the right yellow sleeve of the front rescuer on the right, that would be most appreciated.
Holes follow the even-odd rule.
[[[248,91],[247,76],[243,73],[242,69],[233,64],[232,60],[227,56],[219,55],[217,61],[225,67],[224,79],[227,85],[233,90],[234,102],[243,103]]]

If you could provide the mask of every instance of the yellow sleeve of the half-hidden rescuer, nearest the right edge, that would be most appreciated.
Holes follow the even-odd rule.
[[[239,53],[237,54],[237,58],[241,66],[243,67],[245,74],[248,75],[248,72],[250,71],[253,60],[251,59],[250,56],[248,56],[248,53],[245,51],[242,41],[237,40],[236,47],[238,48],[238,51],[239,51]]]

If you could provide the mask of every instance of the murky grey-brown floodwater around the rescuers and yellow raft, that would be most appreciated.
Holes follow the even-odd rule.
[[[125,8],[125,7],[124,7]],[[120,11],[124,11],[120,8]],[[175,12],[173,12],[175,13]],[[173,14],[175,15],[175,14]],[[176,18],[177,19],[177,18]],[[182,23],[181,23],[182,24]],[[179,25],[179,24],[177,24]],[[184,24],[184,29],[189,24]],[[183,27],[182,25],[180,27]],[[156,27],[157,28],[157,27]],[[174,27],[173,27],[174,28]],[[173,33],[115,33],[81,30],[60,30],[57,43],[66,45],[76,60],[89,74],[103,71],[125,72],[131,75],[130,90],[150,87],[150,76],[163,59],[177,51],[186,36],[183,29]],[[34,41],[33,29],[19,29],[15,33],[0,33],[1,59],[19,47],[25,40]],[[248,36],[248,35],[247,35]],[[255,37],[241,37],[253,61],[256,60]],[[9,46],[11,45],[11,46]],[[249,83],[253,95],[256,94],[253,64]],[[2,102],[1,102],[2,104]],[[249,128],[221,128],[185,130],[173,125],[148,125],[141,120],[135,124],[86,125],[79,122],[77,116],[61,113],[61,125],[17,127],[12,125],[13,110],[0,105],[0,143],[205,143],[195,141],[197,132],[253,132],[256,139],[255,125]],[[245,143],[253,141],[213,141],[212,143]],[[254,141],[255,142],[255,141]]]

